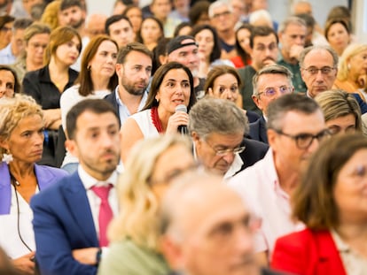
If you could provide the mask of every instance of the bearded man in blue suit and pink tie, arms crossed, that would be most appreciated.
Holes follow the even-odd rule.
[[[84,100],[68,112],[66,146],[79,158],[78,171],[31,201],[41,274],[97,273],[101,247],[106,246],[105,227],[118,211],[113,186],[120,156],[119,128],[113,107],[102,99]],[[105,199],[95,194],[96,187],[109,190]],[[106,204],[107,221],[101,220]]]

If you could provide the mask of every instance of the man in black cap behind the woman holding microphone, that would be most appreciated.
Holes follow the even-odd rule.
[[[205,95],[205,79],[198,77],[199,55],[198,44],[190,35],[180,35],[173,38],[167,45],[167,62],[176,61],[188,67],[194,80],[194,91],[197,99]]]

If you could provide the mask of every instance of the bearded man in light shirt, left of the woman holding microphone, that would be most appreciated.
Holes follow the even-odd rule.
[[[105,100],[113,104],[120,125],[145,105],[152,74],[152,52],[142,43],[131,42],[119,50],[116,62],[119,85]]]

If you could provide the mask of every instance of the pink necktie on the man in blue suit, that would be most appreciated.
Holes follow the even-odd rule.
[[[107,226],[113,218],[113,211],[111,209],[110,203],[108,202],[108,193],[113,186],[110,184],[107,187],[91,187],[93,192],[98,195],[101,199],[101,204],[99,206],[99,215],[98,215],[98,223],[99,223],[99,246],[107,247]]]

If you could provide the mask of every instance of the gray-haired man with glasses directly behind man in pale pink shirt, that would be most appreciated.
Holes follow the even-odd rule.
[[[265,66],[254,75],[253,87],[253,100],[262,111],[262,117],[250,123],[250,136],[256,141],[268,143],[268,105],[282,95],[293,93],[292,73],[282,65]]]

